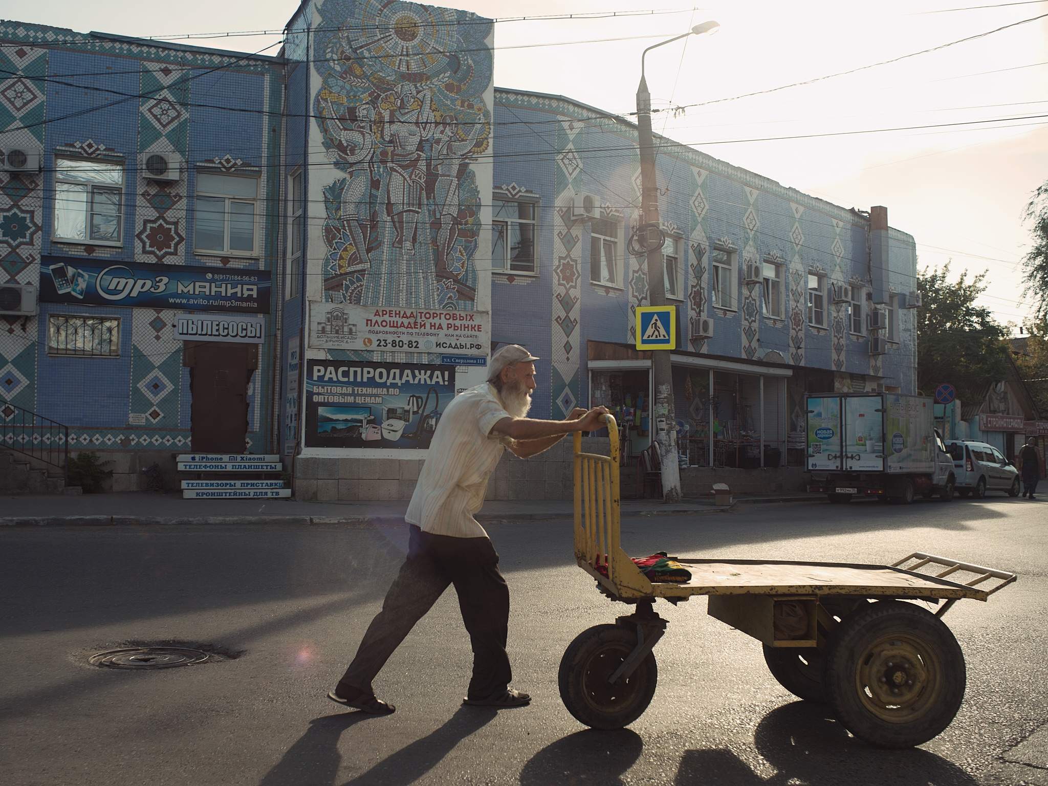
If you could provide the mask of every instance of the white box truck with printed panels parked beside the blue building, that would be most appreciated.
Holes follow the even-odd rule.
[[[933,403],[900,393],[808,395],[808,490],[830,502],[953,499],[954,461],[935,429]]]

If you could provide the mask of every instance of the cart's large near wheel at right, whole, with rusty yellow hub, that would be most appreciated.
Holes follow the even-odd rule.
[[[964,655],[931,612],[882,601],[845,618],[824,675],[837,720],[873,745],[905,748],[940,734],[964,698]]]

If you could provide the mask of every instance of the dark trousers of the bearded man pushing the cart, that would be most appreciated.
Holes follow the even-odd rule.
[[[473,678],[467,696],[487,698],[511,679],[506,655],[509,588],[499,572],[499,555],[487,538],[449,538],[411,525],[408,559],[386,593],[356,657],[340,684],[370,692],[371,681],[433,604],[455,585],[462,621],[473,643]]]

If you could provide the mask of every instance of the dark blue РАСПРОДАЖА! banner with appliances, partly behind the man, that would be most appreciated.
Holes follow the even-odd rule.
[[[430,446],[455,395],[455,367],[306,361],[307,447]]]

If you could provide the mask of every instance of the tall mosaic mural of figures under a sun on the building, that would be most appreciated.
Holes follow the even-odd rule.
[[[489,201],[471,163],[490,147],[490,22],[327,0],[316,29],[312,113],[344,173],[323,188],[324,300],[472,309]]]

